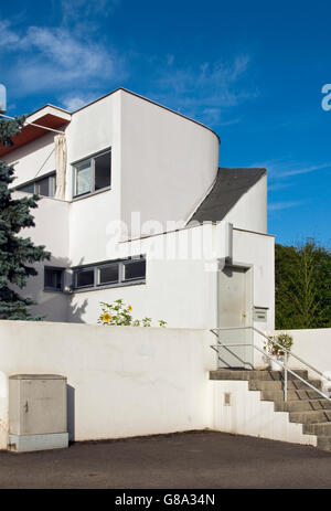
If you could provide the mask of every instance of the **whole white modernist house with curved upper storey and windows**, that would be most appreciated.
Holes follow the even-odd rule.
[[[266,171],[218,168],[212,129],[118,88],[46,105],[13,141],[17,193],[42,195],[24,235],[52,253],[23,291],[35,313],[95,323],[122,298],[169,327],[274,329]]]

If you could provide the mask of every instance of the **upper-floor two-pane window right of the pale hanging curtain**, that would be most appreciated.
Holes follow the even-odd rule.
[[[74,166],[74,198],[110,187],[110,150],[95,155]]]

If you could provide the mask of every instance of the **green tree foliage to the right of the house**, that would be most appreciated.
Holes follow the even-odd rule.
[[[276,244],[276,329],[331,327],[331,252]]]

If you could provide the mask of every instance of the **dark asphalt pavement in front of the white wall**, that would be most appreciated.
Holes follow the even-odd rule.
[[[218,432],[0,453],[0,488],[331,488],[331,453]]]

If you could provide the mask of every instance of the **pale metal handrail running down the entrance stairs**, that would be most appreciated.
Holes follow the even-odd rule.
[[[211,332],[213,332],[215,336],[217,336],[217,333],[215,332],[215,330],[245,330],[245,329],[252,329],[254,331],[256,331],[257,333],[259,333],[260,336],[263,336],[264,338],[266,338],[268,341],[270,340],[270,338],[268,338],[266,334],[264,334],[260,330],[258,330],[257,328],[255,327],[229,327],[229,328],[215,328],[215,329],[211,329]],[[274,342],[274,341],[273,341]],[[279,348],[281,348],[281,350],[286,351],[287,355],[286,355],[286,361],[288,359],[288,354],[291,354],[293,355],[293,353],[291,353],[289,350],[287,350],[286,348],[284,348],[281,344],[279,344],[278,342],[275,341],[275,344],[278,345]],[[260,353],[263,353],[265,356],[267,356],[269,360],[274,360],[278,365],[280,365],[284,370],[285,370],[285,374],[284,374],[284,401],[285,403],[287,402],[287,396],[288,396],[288,377],[287,377],[287,373],[289,372],[290,374],[292,374],[293,376],[296,376],[298,380],[300,380],[301,382],[303,382],[306,385],[308,385],[310,388],[312,388],[313,391],[316,391],[318,394],[320,394],[322,397],[324,397],[325,400],[330,401],[331,402],[331,398],[324,394],[322,391],[320,391],[319,388],[317,388],[314,385],[312,385],[311,383],[309,383],[306,379],[301,377],[299,374],[297,374],[295,371],[288,369],[287,366],[287,363],[282,363],[280,362],[280,360],[278,360],[277,358],[275,356],[271,356],[270,354],[266,353],[264,350],[261,350],[260,348],[258,348],[257,345],[254,344],[254,341],[250,343],[250,344],[245,344],[245,343],[231,343],[231,344],[224,344],[224,343],[218,343],[218,344],[212,344],[211,348],[213,350],[216,349],[220,349],[220,348],[225,348],[225,349],[228,349],[231,347],[253,347],[255,350],[259,351]],[[217,350],[215,350],[217,351]],[[218,353],[217,353],[218,354]],[[312,371],[316,371],[318,374],[320,374],[324,380],[327,381],[330,381],[330,379],[325,377],[320,371],[318,371],[317,369],[314,369],[312,365],[308,364],[306,361],[303,361],[300,356],[298,355],[293,355],[297,360],[299,360],[301,363],[306,364],[308,368],[310,368]]]

